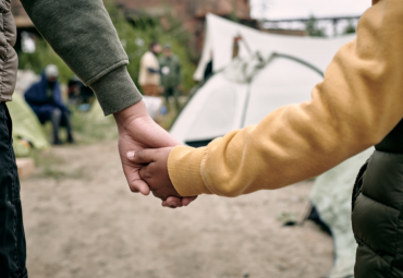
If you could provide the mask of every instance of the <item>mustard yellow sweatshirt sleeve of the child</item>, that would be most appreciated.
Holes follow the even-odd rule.
[[[168,159],[182,196],[237,196],[318,176],[379,143],[403,118],[403,0],[380,0],[312,92],[259,124]]]

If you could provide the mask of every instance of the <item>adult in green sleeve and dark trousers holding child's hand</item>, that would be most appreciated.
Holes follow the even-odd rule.
[[[26,244],[20,181],[12,147],[12,101],[17,57],[16,27],[11,0],[0,1],[3,38],[0,49],[0,277],[26,278]],[[141,165],[126,158],[129,150],[174,146],[178,142],[147,113],[142,95],[130,77],[129,59],[101,0],[21,0],[25,11],[72,71],[96,94],[105,114],[114,116],[123,171],[133,192],[149,194],[138,176]],[[179,206],[193,198],[175,198]]]

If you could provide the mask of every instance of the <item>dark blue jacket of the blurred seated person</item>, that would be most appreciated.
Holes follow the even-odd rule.
[[[47,88],[48,78],[44,72],[40,81],[32,85],[25,93],[25,100],[28,102],[41,123],[50,120],[50,116],[54,109],[60,109],[62,112],[70,112],[62,101],[59,82],[54,82],[53,99],[50,101],[47,97]]]

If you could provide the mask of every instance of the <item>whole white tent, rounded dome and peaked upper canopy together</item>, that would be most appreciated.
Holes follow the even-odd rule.
[[[233,38],[240,35],[239,56],[232,59]],[[203,78],[211,53],[215,74],[184,107],[171,134],[183,144],[204,146],[281,106],[309,100],[335,51],[353,38],[271,35],[208,14],[194,78]]]

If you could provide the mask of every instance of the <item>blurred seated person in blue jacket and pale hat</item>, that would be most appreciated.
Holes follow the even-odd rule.
[[[62,144],[59,137],[60,126],[65,126],[68,131],[68,143],[74,143],[70,110],[62,101],[58,76],[58,67],[49,64],[42,72],[40,81],[32,85],[24,95],[41,124],[51,121],[54,145]]]

